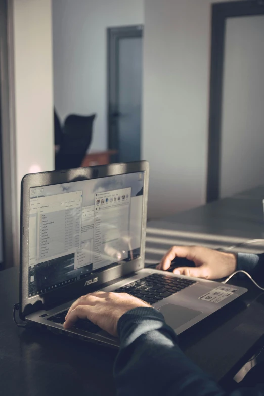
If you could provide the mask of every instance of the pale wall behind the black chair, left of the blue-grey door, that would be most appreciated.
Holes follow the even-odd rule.
[[[97,113],[90,150],[107,148],[106,28],[143,23],[144,0],[53,0],[54,104]]]

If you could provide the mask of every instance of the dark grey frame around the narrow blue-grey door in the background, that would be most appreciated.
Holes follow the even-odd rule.
[[[111,162],[119,162],[118,130],[112,125],[112,114],[118,114],[118,44],[122,38],[143,37],[143,25],[107,28],[107,136]]]

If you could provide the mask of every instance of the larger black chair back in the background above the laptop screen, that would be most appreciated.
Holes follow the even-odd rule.
[[[55,157],[55,169],[78,168],[92,141],[93,122],[90,116],[69,115],[64,122],[61,148]]]

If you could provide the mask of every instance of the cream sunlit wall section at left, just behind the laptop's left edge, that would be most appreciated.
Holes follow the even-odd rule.
[[[14,0],[17,201],[26,173],[54,169],[51,0]]]

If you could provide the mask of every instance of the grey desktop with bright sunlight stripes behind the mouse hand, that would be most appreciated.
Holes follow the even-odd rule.
[[[264,238],[264,187],[249,190],[147,224],[146,262],[159,262],[172,245],[203,245],[217,249]],[[264,252],[263,244],[235,251]]]

